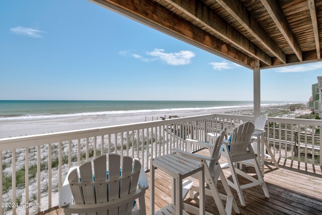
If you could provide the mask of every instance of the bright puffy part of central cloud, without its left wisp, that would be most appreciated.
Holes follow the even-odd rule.
[[[191,62],[191,58],[195,56],[192,51],[179,51],[174,53],[165,53],[164,49],[155,48],[153,51],[147,53],[156,59],[165,61],[170,65],[186,65]]]

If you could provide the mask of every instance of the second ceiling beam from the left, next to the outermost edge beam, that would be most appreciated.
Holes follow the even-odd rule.
[[[268,65],[272,65],[271,57],[262,49],[257,47],[253,42],[247,39],[243,34],[239,33],[213,10],[201,1],[187,0],[165,0],[175,8],[184,12],[197,22],[209,28],[211,31],[220,35],[230,43],[257,58]]]

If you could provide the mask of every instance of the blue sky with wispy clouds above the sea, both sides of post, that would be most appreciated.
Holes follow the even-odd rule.
[[[0,100],[253,100],[253,71],[88,1],[0,1]],[[307,101],[322,64],[264,69]]]

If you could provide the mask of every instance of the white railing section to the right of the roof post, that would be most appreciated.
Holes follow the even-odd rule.
[[[267,125],[266,134],[277,157],[322,166],[321,120],[268,117]]]

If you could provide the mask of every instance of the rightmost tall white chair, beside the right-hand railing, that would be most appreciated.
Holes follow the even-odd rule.
[[[266,141],[266,138],[264,137],[264,133],[265,133],[265,124],[266,124],[266,120],[267,120],[267,115],[260,115],[258,117],[256,117],[255,121],[254,121],[254,125],[255,125],[255,130],[252,134],[252,138],[254,139],[254,142],[252,144],[254,153],[259,156],[263,156],[261,158],[261,163],[259,164],[261,169],[262,169],[262,174],[264,176],[265,171],[264,171],[264,162],[273,162],[276,168],[279,168],[276,160],[275,160],[275,156],[273,155],[271,148],[269,146],[269,143]],[[263,146],[260,147],[260,153],[258,152],[258,145],[261,144],[258,140],[261,140],[264,142]],[[268,154],[266,153],[266,150]],[[245,161],[245,162],[240,162],[240,168],[242,169],[243,164],[247,165],[247,166],[254,166],[254,164],[252,162],[249,161]]]

